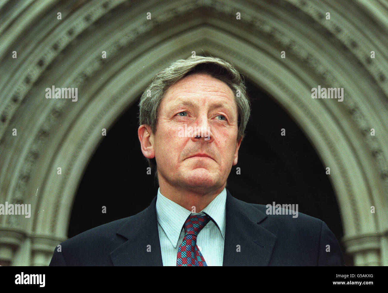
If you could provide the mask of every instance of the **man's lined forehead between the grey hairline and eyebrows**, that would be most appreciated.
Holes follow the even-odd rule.
[[[161,101],[161,106],[163,104],[169,107],[185,101],[200,106],[214,103],[232,107],[236,105],[233,91],[226,83],[202,73],[186,76],[170,86]]]

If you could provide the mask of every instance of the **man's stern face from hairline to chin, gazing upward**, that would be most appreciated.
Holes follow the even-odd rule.
[[[241,144],[237,118],[232,90],[210,75],[192,74],[168,88],[150,135],[159,183],[197,191],[224,186]]]

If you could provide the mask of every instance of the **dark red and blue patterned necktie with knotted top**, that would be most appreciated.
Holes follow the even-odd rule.
[[[197,236],[199,231],[210,221],[210,216],[206,214],[189,215],[183,225],[185,236],[182,244],[178,248],[177,266],[200,266],[207,267],[202,253],[197,246]]]

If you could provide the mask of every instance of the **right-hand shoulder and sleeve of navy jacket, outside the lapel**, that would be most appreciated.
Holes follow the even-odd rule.
[[[338,240],[324,221],[285,209],[273,214],[272,205],[242,204],[264,213],[260,226],[277,237],[270,265],[344,265]]]

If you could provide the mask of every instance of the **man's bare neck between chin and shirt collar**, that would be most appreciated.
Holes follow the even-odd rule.
[[[207,207],[208,204],[221,193],[225,186],[226,182],[219,188],[215,187],[211,188],[211,190],[202,190],[187,186],[184,188],[180,186],[172,186],[164,180],[159,180],[160,193],[163,196],[175,203],[178,203],[181,207],[196,213],[201,212],[205,207]]]

